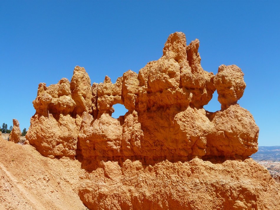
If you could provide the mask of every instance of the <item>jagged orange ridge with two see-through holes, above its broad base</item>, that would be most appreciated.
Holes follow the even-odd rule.
[[[221,65],[217,75],[200,65],[199,41],[186,46],[171,34],[163,56],[139,74],[127,71],[115,84],[93,83],[82,67],[71,82],[40,83],[27,139],[45,156],[202,157],[250,156],[258,127],[237,100],[246,87],[241,69]],[[222,110],[203,109],[217,89]],[[113,119],[112,106],[128,112]],[[234,125],[234,126],[232,126]]]

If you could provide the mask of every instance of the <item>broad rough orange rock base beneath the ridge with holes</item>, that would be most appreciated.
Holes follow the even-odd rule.
[[[89,209],[279,209],[279,184],[251,158],[244,161],[100,162],[80,187]]]

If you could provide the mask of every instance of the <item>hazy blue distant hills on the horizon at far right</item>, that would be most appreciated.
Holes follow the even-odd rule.
[[[280,146],[259,146],[258,152],[251,155],[257,161],[280,161]]]

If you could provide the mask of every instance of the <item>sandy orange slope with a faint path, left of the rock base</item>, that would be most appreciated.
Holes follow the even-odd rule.
[[[76,160],[46,158],[0,139],[0,210],[86,209],[77,191],[80,168]]]

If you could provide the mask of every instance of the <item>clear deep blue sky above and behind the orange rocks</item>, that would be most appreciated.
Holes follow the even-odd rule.
[[[202,67],[238,65],[239,104],[260,127],[259,145],[280,145],[279,1],[0,1],[0,124],[29,127],[40,82],[69,80],[76,65],[91,82],[112,82],[162,56],[169,34],[200,40]],[[214,95],[205,109],[220,109]]]

